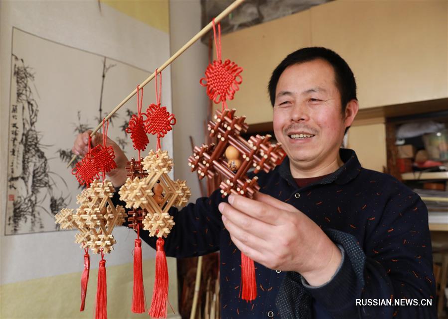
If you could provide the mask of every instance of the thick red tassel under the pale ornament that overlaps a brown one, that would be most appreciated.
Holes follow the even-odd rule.
[[[168,300],[168,266],[166,264],[163,238],[157,239],[157,252],[155,253],[155,281],[152,292],[151,309],[152,318],[166,318],[166,302]]]

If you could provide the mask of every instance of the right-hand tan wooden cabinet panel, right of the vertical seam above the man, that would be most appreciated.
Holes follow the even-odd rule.
[[[311,11],[311,43],[340,54],[361,108],[448,97],[448,1],[333,1]]]

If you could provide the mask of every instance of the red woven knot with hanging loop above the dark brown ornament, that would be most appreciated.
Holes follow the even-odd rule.
[[[243,68],[229,59],[224,63],[221,60],[221,24],[218,23],[218,36],[216,36],[215,19],[213,23],[213,35],[215,39],[216,60],[213,60],[205,70],[205,78],[199,83],[207,87],[207,95],[214,103],[222,102],[222,110],[227,108],[227,100],[233,100],[235,92],[240,89],[243,78],[240,73]]]

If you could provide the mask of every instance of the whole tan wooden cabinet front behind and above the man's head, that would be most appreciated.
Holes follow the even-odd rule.
[[[325,46],[352,68],[361,108],[448,97],[448,1],[337,0],[222,37],[223,58],[244,68],[228,103],[248,123],[272,121],[274,68],[305,46]]]

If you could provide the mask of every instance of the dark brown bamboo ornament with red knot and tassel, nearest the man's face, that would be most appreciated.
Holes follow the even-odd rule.
[[[232,100],[239,85],[242,83],[240,73],[243,71],[234,62],[221,62],[221,27],[218,23],[218,36],[213,21],[216,57],[205,71],[205,78],[200,80],[202,86],[207,86],[207,95],[214,103],[222,102],[221,110],[216,110],[214,120],[208,123],[210,137],[217,139],[217,144],[195,147],[193,155],[188,158],[191,171],[197,171],[199,179],[207,176],[213,178],[216,174],[223,177],[219,185],[222,197],[238,194],[253,198],[260,190],[257,177],[250,179],[247,172],[255,168],[269,172],[280,164],[285,153],[281,144],[272,145],[270,135],[251,136],[248,141],[240,136],[249,127],[245,116],[236,116],[235,109],[229,110],[226,100]],[[206,82],[205,82],[206,81]],[[246,301],[257,298],[257,282],[254,261],[241,252],[241,288],[240,297]]]

